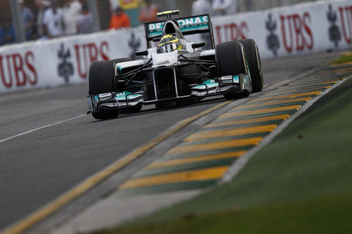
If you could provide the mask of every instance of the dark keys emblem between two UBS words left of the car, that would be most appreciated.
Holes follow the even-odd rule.
[[[58,64],[58,76],[62,77],[66,84],[70,81],[70,77],[73,76],[73,64],[69,61],[70,57],[70,48],[65,50],[65,46],[61,43],[58,50],[58,58],[61,60]]]

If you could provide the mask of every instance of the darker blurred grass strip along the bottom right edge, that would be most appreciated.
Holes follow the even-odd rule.
[[[285,202],[175,221],[118,228],[113,233],[352,233],[352,193]]]

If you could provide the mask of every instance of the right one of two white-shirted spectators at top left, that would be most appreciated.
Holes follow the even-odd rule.
[[[78,0],[66,0],[63,6],[63,22],[65,23],[65,35],[77,33],[77,19],[80,15],[82,4]]]

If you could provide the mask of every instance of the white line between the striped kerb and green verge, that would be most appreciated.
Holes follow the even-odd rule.
[[[285,122],[283,122],[280,126],[277,127],[277,129],[275,129],[274,131],[272,131],[271,134],[269,134],[268,136],[266,136],[264,138],[263,141],[261,141],[256,147],[252,148],[251,150],[249,150],[245,155],[239,157],[238,160],[236,160],[231,166],[230,168],[227,170],[227,172],[225,173],[225,175],[222,177],[222,179],[219,181],[218,184],[222,184],[222,183],[227,183],[232,181],[232,178],[234,178],[234,176],[237,176],[237,174],[239,174],[239,171],[241,171],[241,169],[243,169],[246,164],[249,162],[249,160],[251,159],[251,157],[253,157],[253,155],[256,154],[256,152],[258,152],[259,150],[263,149],[266,145],[268,145],[272,140],[274,140],[274,138],[281,133],[287,126],[289,126],[289,124],[291,124],[291,122],[293,122],[297,117],[299,117],[300,115],[303,114],[303,112],[305,112],[306,110],[308,110],[308,108],[310,108],[311,105],[313,105],[317,100],[319,100],[320,98],[322,98],[323,96],[325,96],[325,94],[329,93],[330,91],[334,90],[337,86],[343,84],[344,82],[346,82],[346,80],[350,79],[351,77],[348,77],[346,79],[341,80],[341,82],[338,82],[337,84],[335,84],[334,86],[332,86],[331,88],[325,90],[324,92],[320,93],[320,95],[316,96],[315,98],[312,98],[311,100],[308,100],[308,102],[303,105],[303,107],[301,109],[299,109],[296,113],[294,113],[294,115],[292,115],[291,117],[289,117],[289,119],[287,119]]]

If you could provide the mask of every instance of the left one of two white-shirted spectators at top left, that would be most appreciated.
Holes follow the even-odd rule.
[[[51,1],[49,7],[43,15],[43,24],[49,38],[60,37],[63,35],[63,12],[58,8],[56,0]]]

